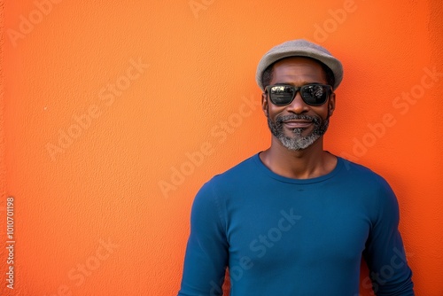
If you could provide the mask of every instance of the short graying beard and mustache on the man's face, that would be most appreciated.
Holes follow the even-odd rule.
[[[309,116],[309,115],[279,115],[276,117],[276,121],[271,121],[268,116],[268,127],[272,133],[272,135],[276,136],[276,138],[289,150],[299,151],[306,149],[310,145],[314,144],[315,141],[323,136],[326,133],[326,130],[329,126],[330,115],[326,117],[323,121],[320,117],[317,116]],[[314,129],[306,136],[302,136],[304,129],[292,129],[293,136],[284,135],[284,121],[290,120],[304,120],[304,121],[312,121],[314,123]]]

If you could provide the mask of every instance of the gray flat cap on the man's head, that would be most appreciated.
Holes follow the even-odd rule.
[[[343,79],[343,66],[337,58],[334,58],[329,51],[326,51],[322,46],[310,43],[304,39],[297,39],[287,41],[285,43],[276,45],[268,51],[263,58],[260,59],[259,66],[257,66],[257,73],[255,80],[259,84],[261,90],[265,90],[266,85],[262,85],[261,76],[266,68],[282,58],[289,57],[308,57],[315,58],[328,66],[334,74],[335,83],[332,88],[335,90]]]

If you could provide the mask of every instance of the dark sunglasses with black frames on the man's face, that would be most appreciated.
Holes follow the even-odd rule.
[[[332,87],[326,84],[305,84],[300,87],[293,85],[268,85],[266,92],[269,94],[269,99],[274,105],[290,105],[300,92],[300,96],[307,105],[323,105],[330,94]]]

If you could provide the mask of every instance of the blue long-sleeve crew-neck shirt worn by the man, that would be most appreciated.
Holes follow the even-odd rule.
[[[258,154],[196,196],[179,296],[358,296],[361,256],[377,295],[414,295],[385,180],[338,158],[311,179],[276,175]]]

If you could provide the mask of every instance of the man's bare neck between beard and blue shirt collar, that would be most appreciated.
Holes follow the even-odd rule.
[[[326,175],[337,165],[337,157],[323,151],[323,136],[299,151],[287,149],[273,136],[271,147],[260,153],[260,160],[277,175],[292,179]]]

